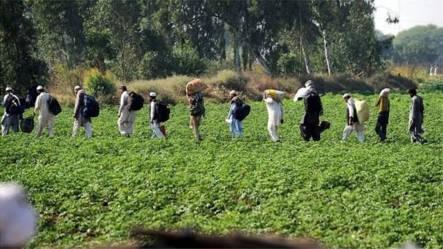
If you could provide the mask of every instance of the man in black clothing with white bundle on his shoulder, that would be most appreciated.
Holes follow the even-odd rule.
[[[305,115],[300,120],[300,134],[305,141],[320,140],[320,116],[323,115],[323,105],[320,95],[314,86],[312,80],[305,83],[306,93],[303,100],[305,101]]]

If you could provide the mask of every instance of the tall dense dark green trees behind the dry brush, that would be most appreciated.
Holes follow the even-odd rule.
[[[1,0],[0,84],[25,89],[54,65],[93,66],[127,82],[229,66],[270,75],[383,66],[374,1]]]

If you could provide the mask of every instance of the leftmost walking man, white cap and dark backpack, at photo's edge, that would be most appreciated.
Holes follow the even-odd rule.
[[[1,136],[6,136],[9,132],[9,127],[12,126],[12,131],[16,133],[19,131],[19,121],[21,113],[14,110],[20,107],[20,100],[17,95],[13,94],[12,87],[6,87],[6,95],[1,102],[5,109],[1,117]]]

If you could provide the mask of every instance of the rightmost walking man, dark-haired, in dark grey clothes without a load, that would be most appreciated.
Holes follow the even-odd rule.
[[[409,133],[412,142],[420,142],[422,145],[427,142],[420,134],[424,133],[423,118],[424,105],[423,99],[417,95],[417,90],[409,89],[408,93],[411,98],[409,107]]]

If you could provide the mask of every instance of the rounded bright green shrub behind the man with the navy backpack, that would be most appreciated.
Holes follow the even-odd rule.
[[[83,85],[89,93],[95,96],[109,96],[116,93],[112,76],[102,75],[97,68],[92,68],[84,73]]]

